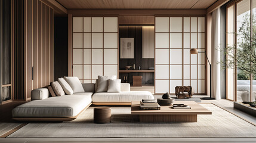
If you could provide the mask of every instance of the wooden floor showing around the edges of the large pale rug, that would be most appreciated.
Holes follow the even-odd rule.
[[[141,87],[132,87],[131,91],[150,91],[154,92],[153,86],[142,86]],[[155,98],[161,97],[161,95],[155,95]],[[194,97],[202,98],[205,97],[203,95],[195,95]],[[242,111],[236,110],[233,108],[233,102],[229,100],[202,100],[203,103],[213,103],[215,105],[218,105],[219,107],[223,108],[224,110],[229,111],[230,113],[236,114],[242,119],[247,120],[248,122],[251,122],[252,124],[256,125],[256,117],[253,117],[249,114],[243,113]],[[9,104],[0,105],[0,122],[15,122],[11,119],[11,111],[14,107],[17,105],[23,104],[24,102],[11,102]],[[255,135],[256,138],[256,135]],[[0,138],[0,142],[256,142],[255,138],[172,138],[172,139],[132,139],[132,138],[94,138],[94,139],[82,139],[82,138],[65,138],[65,139],[54,139],[54,138],[36,138],[36,139],[10,139],[10,138]]]

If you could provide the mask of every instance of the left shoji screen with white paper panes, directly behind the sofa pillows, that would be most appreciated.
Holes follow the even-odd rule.
[[[118,75],[118,17],[73,17],[72,76]]]

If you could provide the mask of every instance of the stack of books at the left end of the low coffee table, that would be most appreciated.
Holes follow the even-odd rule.
[[[156,100],[140,101],[140,110],[160,110],[161,107]]]

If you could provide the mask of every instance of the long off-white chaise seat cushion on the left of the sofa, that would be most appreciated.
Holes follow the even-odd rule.
[[[91,103],[88,95],[63,95],[30,101],[13,109],[13,117],[74,117]]]

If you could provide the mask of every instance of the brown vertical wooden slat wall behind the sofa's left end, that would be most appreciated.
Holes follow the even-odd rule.
[[[14,0],[14,100],[53,82],[53,8]]]

